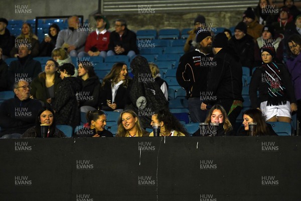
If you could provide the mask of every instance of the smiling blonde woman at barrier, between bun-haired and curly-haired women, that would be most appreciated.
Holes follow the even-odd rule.
[[[149,133],[141,128],[136,113],[126,110],[120,113],[116,137],[147,137]]]

